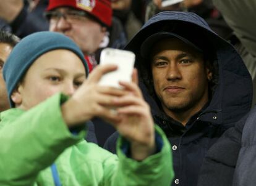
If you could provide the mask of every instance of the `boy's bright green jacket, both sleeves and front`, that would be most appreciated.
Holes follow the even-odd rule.
[[[0,185],[170,185],[173,164],[169,142],[143,161],[127,158],[119,139],[116,155],[72,134],[61,115],[56,94],[36,107],[12,108],[0,115]],[[54,166],[51,166],[54,163]],[[55,171],[54,171],[55,170]],[[57,171],[56,171],[57,170]]]

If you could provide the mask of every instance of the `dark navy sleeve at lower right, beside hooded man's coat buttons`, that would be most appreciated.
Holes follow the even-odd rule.
[[[247,116],[244,116],[234,127],[224,132],[208,150],[200,170],[198,186],[232,185],[246,119]]]

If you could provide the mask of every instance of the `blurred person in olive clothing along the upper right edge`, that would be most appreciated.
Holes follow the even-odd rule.
[[[242,56],[254,84],[254,100],[256,103],[256,2],[254,0],[213,0],[228,25],[234,30],[234,46]],[[242,13],[244,12],[244,13]],[[237,41],[238,40],[238,41]]]

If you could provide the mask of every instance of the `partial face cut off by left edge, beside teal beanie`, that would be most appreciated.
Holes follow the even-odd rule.
[[[9,108],[8,96],[6,91],[6,83],[2,77],[2,67],[6,62],[7,57],[12,51],[12,47],[6,43],[0,43],[0,111],[7,110]]]

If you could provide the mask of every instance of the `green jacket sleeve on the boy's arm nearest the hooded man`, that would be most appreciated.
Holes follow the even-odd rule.
[[[119,163],[114,168],[105,161],[105,177],[101,185],[120,185],[120,186],[150,186],[161,185],[169,186],[174,177],[173,160],[168,139],[158,126],[156,132],[160,134],[163,140],[163,147],[160,152],[148,156],[143,161],[135,161],[127,158],[121,149],[124,139],[119,137],[117,140],[117,156]],[[106,166],[108,164],[108,166]]]

